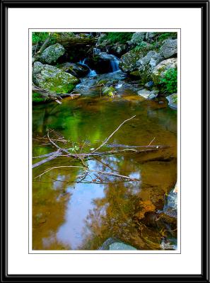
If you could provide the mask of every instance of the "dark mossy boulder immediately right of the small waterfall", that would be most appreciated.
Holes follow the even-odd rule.
[[[119,68],[126,73],[131,73],[138,69],[138,60],[144,57],[145,52],[141,50],[131,50],[124,55],[119,60]]]

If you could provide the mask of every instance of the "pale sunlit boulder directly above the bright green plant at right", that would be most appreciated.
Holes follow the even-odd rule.
[[[165,72],[168,71],[168,69],[176,68],[177,58],[166,59],[153,68],[151,71],[151,78],[156,85],[161,84],[161,80],[163,79]]]

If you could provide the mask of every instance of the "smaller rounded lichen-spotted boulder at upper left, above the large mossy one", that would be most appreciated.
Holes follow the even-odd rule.
[[[53,64],[65,53],[65,48],[56,43],[47,47],[40,55],[40,61],[44,64]]]

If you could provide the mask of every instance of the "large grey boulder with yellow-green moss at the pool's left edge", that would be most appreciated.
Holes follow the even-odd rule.
[[[35,62],[33,83],[46,91],[62,94],[72,91],[78,79],[57,67]]]

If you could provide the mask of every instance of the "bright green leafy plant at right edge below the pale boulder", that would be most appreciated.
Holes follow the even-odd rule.
[[[177,92],[177,69],[170,68],[165,71],[163,79],[161,79],[161,84],[165,88],[167,93]]]

